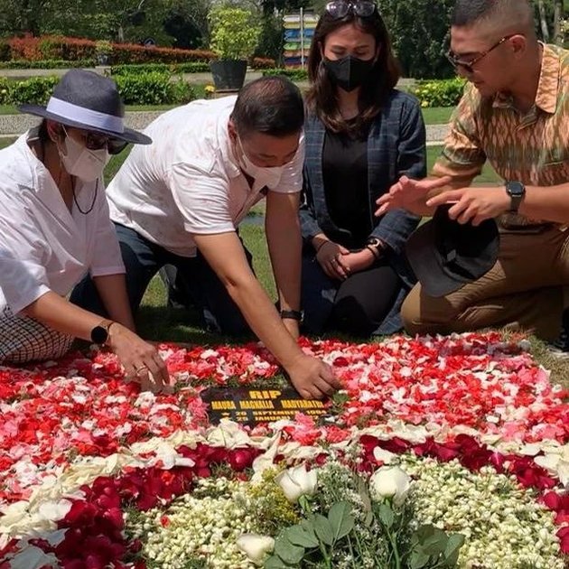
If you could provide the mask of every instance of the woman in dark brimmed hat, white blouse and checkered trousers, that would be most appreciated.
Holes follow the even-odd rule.
[[[169,383],[163,360],[135,334],[125,268],[108,217],[103,170],[111,154],[148,136],[123,124],[114,81],[70,70],[42,123],[0,151],[0,364],[56,359],[75,338],[117,353],[143,388]],[[70,303],[90,273],[109,318]]]

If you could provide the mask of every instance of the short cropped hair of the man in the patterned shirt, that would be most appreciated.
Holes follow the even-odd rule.
[[[496,27],[533,27],[533,8],[527,0],[457,0],[451,25],[491,23]]]

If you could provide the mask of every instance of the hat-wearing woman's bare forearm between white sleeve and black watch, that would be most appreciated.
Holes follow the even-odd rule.
[[[70,334],[82,340],[90,340],[91,330],[103,320],[98,314],[83,310],[52,292],[43,294],[36,301],[28,304],[22,312],[52,330]]]

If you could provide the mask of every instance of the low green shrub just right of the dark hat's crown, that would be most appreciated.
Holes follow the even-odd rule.
[[[188,103],[194,98],[191,86],[169,73],[151,71],[117,75],[118,91],[126,105],[168,105]]]

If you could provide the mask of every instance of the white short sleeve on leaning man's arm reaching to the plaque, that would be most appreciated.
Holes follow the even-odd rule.
[[[235,231],[229,210],[229,179],[210,160],[174,163],[170,189],[188,233],[210,235]]]

